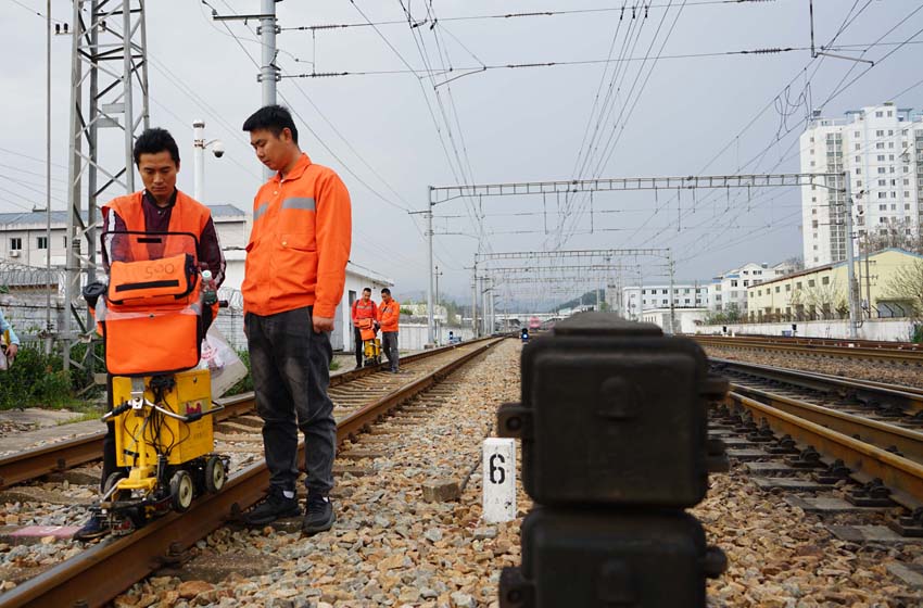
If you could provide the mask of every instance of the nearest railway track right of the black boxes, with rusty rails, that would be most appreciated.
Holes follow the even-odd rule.
[[[731,381],[717,423],[814,479],[855,482],[857,504],[903,507],[894,520],[923,535],[923,391],[712,359]]]

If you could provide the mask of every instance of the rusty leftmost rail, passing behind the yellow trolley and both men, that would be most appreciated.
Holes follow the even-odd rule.
[[[415,353],[402,357],[404,363],[413,363],[448,352],[459,346],[472,344],[481,340],[472,340],[463,344],[453,344],[441,349],[433,349]],[[343,373],[337,373],[330,377],[330,387],[339,387],[346,382],[352,382],[363,376],[375,373],[383,369],[387,363],[379,364],[372,367],[363,367],[353,369]],[[216,400],[225,409],[216,414],[217,421],[225,421],[238,416],[242,416],[248,411],[253,410],[253,392],[242,393],[232,397]],[[105,438],[105,431],[98,431],[80,438],[75,438],[67,441],[61,441],[43,447],[26,449],[18,454],[13,454],[0,458],[0,490],[5,490],[13,485],[39,479],[50,473],[62,472],[67,469],[73,469],[94,460],[102,458],[102,442]]]

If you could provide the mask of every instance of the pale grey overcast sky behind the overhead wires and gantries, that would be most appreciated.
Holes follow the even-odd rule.
[[[220,14],[260,10],[258,0],[210,1]],[[283,74],[365,74],[285,78],[279,102],[298,114],[302,149],[350,188],[352,259],[391,277],[400,299],[426,286],[423,225],[407,210],[426,206],[429,186],[791,173],[798,170],[797,138],[811,109],[842,116],[883,101],[923,106],[914,43],[923,41],[923,34],[914,37],[923,28],[920,0],[814,0],[815,42],[833,40],[837,54],[874,60],[874,67],[812,60],[807,4],[287,0],[277,4],[282,28],[400,23],[282,31]],[[45,206],[46,28],[35,14],[45,5],[0,0],[2,211]],[[412,29],[404,8],[413,20],[429,21]],[[240,125],[262,99],[251,60],[260,61],[255,24],[215,23],[211,9],[192,0],[149,1],[147,11],[151,125],[169,129],[180,144],[179,188],[192,192],[191,125],[203,118],[207,137],[227,149],[220,160],[206,159],[203,202],[250,210],[262,166]],[[571,13],[455,18],[542,11]],[[53,0],[56,21],[71,22],[71,13],[69,1]],[[52,43],[52,207],[64,208],[71,45],[66,37]],[[786,48],[796,50],[738,53]],[[619,59],[631,61],[606,63]],[[551,62],[578,64],[494,68]],[[443,66],[452,72],[441,73]],[[746,262],[800,255],[799,210],[797,189],[684,191],[679,200],[675,192],[610,192],[592,205],[585,197],[456,200],[435,207],[445,216],[435,231],[462,233],[437,236],[437,263],[442,289],[459,300],[468,297],[467,268],[481,231],[493,233],[482,241],[493,252],[669,246],[679,279],[706,280]],[[643,270],[645,281],[659,280],[656,264]]]

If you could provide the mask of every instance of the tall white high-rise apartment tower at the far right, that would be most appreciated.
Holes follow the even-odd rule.
[[[918,233],[923,217],[923,112],[893,103],[815,113],[800,138],[802,173],[847,173],[854,235],[897,228]],[[846,258],[845,199],[820,186],[801,187],[805,266]]]

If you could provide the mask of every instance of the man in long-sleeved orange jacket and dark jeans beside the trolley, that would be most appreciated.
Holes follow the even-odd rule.
[[[332,169],[298,144],[288,110],[261,107],[243,123],[256,157],[276,172],[253,199],[246,245],[244,331],[269,469],[266,499],[245,515],[263,525],[295,517],[298,434],[305,435],[308,534],[333,524],[330,490],[337,422],[327,394],[330,334],[352,240],[350,194]]]

